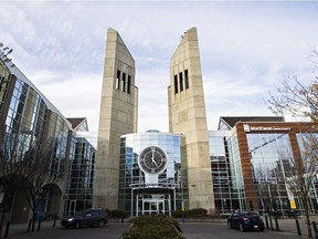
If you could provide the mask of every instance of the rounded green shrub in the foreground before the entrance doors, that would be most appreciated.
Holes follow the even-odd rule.
[[[178,221],[162,215],[140,216],[131,219],[132,227],[123,233],[123,239],[181,239]],[[177,230],[176,230],[177,229]]]

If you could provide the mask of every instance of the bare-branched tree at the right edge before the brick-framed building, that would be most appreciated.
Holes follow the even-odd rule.
[[[318,52],[312,50],[311,59],[314,60],[311,62],[315,67],[318,66],[317,61],[315,61],[316,58],[318,58]],[[308,85],[303,84],[297,76],[285,77],[280,87],[277,89],[277,94],[269,93],[267,103],[269,110],[277,115],[287,113],[294,117],[307,117],[317,123],[318,76],[314,75]],[[318,142],[317,134],[310,134],[309,132],[317,132],[317,126],[314,125],[311,128],[304,129],[303,136],[298,138],[300,149],[299,152],[294,152],[290,159],[295,172],[288,177],[287,184],[292,189],[298,191],[299,200],[304,205],[308,237],[311,238],[309,194],[318,174]]]

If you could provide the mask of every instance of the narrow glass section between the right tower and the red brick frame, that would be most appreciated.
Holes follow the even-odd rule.
[[[209,132],[215,212],[246,210],[237,137],[230,131]]]

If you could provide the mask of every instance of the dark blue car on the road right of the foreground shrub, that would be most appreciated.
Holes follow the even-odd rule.
[[[255,212],[235,212],[227,219],[229,228],[237,228],[241,231],[259,230],[264,231],[264,221]]]

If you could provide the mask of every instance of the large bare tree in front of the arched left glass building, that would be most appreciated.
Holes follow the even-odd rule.
[[[36,141],[28,134],[8,134],[1,149],[0,169],[4,204],[19,189],[24,193],[32,210],[32,231],[40,201],[64,175],[65,159],[56,155],[59,142]],[[3,225],[4,211],[1,222]]]

